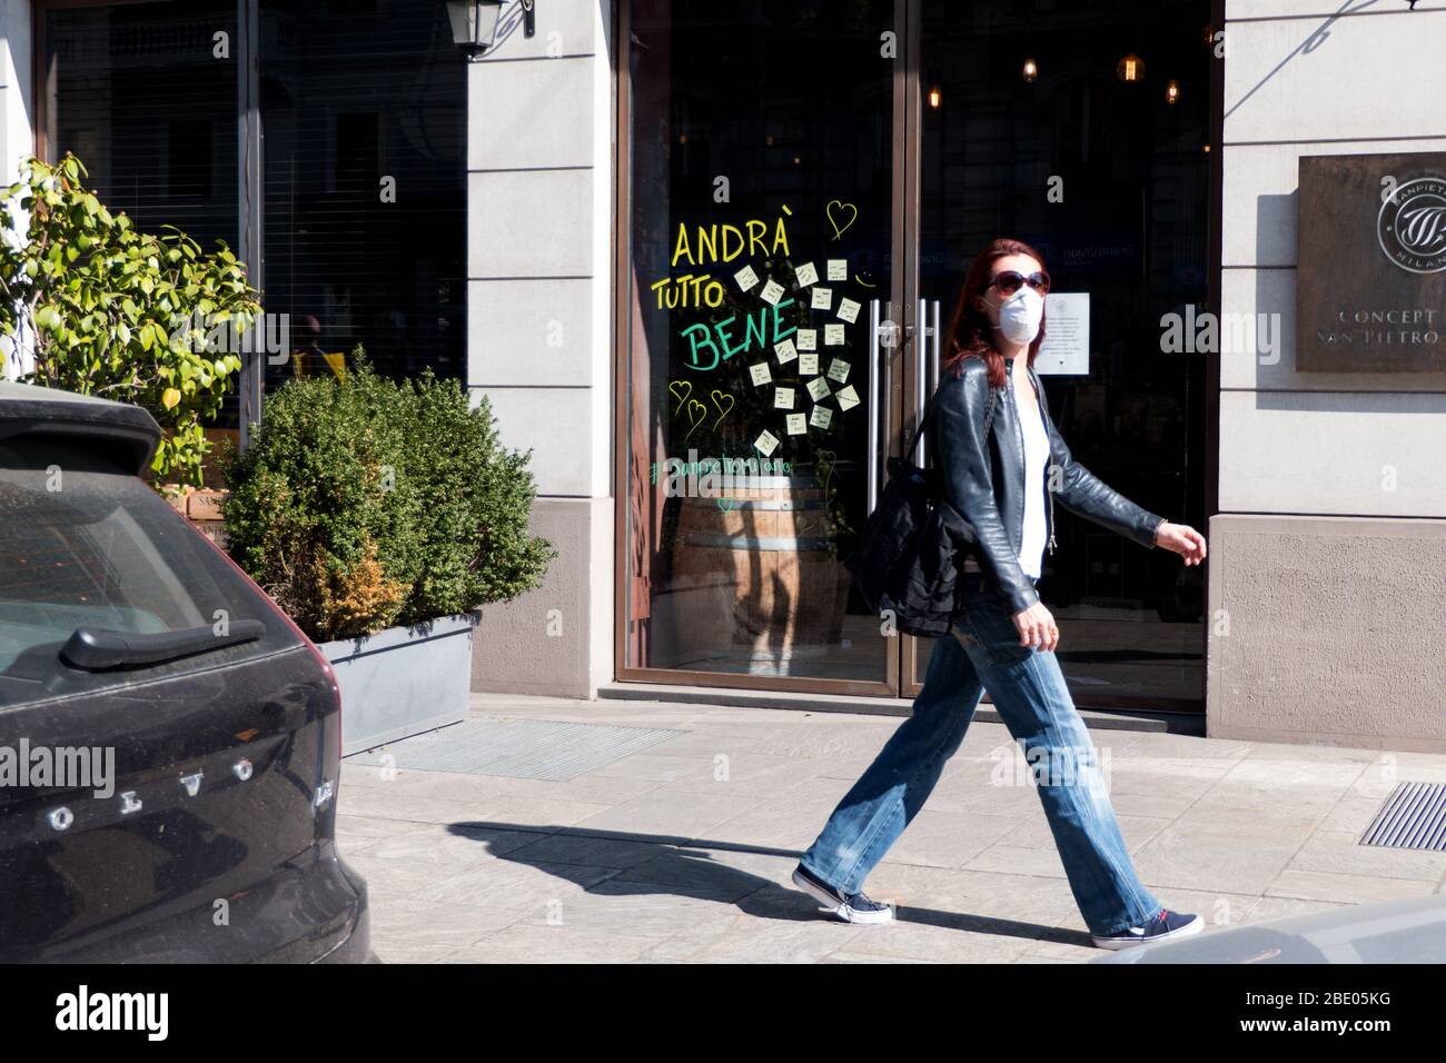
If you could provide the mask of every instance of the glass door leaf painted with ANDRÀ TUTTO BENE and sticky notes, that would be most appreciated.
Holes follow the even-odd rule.
[[[619,677],[897,696],[843,565],[904,414],[904,0],[638,0]]]

